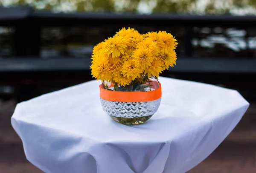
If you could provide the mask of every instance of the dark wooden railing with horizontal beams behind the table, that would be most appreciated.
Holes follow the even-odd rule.
[[[230,15],[172,15],[172,14],[103,14],[38,12],[27,6],[0,8],[0,26],[14,27],[12,56],[0,58],[0,85],[17,89],[18,101],[35,97],[38,86],[79,84],[91,80],[90,56],[84,58],[40,58],[42,30],[45,27],[82,27],[104,29],[125,27],[184,28],[183,53],[178,54],[177,66],[163,76],[209,84],[222,84],[238,89],[247,98],[256,98],[256,59],[239,57],[196,57],[192,39],[195,27],[254,28],[256,17]],[[111,36],[111,35],[108,35]],[[90,35],[88,35],[88,38]],[[244,39],[247,39],[245,36]],[[179,45],[180,46],[180,45]],[[0,48],[1,49],[1,48]],[[254,51],[254,50],[253,50]]]

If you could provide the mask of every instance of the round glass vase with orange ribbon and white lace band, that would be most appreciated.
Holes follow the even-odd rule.
[[[103,110],[114,121],[126,125],[148,121],[157,112],[162,96],[161,84],[154,78],[126,87],[103,81],[99,89]]]

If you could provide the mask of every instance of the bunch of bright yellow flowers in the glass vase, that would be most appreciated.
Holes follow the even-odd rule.
[[[113,84],[104,85],[105,89],[145,91],[139,85],[176,65],[176,41],[165,31],[140,34],[133,28],[122,28],[93,48],[92,75]]]

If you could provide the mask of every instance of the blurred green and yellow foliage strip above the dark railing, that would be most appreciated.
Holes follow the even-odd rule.
[[[52,12],[256,14],[256,0],[0,0]]]

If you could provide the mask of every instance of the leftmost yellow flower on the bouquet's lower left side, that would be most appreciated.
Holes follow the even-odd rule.
[[[111,72],[108,68],[108,57],[103,55],[102,52],[93,55],[93,61],[90,69],[92,69],[92,75],[97,79],[97,81],[109,81],[111,79]]]

